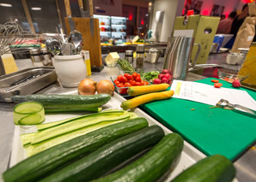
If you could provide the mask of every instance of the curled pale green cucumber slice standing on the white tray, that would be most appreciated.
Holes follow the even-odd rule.
[[[27,102],[15,105],[15,125],[37,125],[45,120],[45,109],[41,103]]]

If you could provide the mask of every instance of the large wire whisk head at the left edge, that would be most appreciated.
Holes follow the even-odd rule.
[[[37,40],[37,38],[36,38]],[[0,24],[0,56],[6,53],[25,53],[21,45],[27,42],[26,33],[15,22]],[[23,46],[22,48],[27,48]]]

